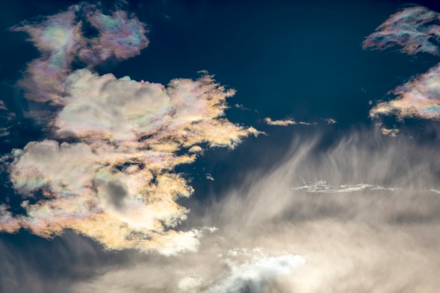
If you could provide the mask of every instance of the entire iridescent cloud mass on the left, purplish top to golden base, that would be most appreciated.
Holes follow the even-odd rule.
[[[97,37],[84,36],[84,22]],[[233,148],[258,134],[224,118],[235,91],[206,72],[167,86],[93,73],[148,44],[145,25],[122,11],[105,15],[82,4],[14,30],[30,34],[42,54],[28,67],[27,98],[58,105],[58,112],[49,122],[55,139],[11,154],[11,181],[25,214],[2,205],[0,230],[53,237],[71,229],[107,249],[164,255],[198,249],[202,230],[175,229],[188,213],[176,200],[193,189],[174,167],[194,162],[203,148]],[[72,70],[78,60],[88,68]],[[77,143],[57,141],[64,138]]]

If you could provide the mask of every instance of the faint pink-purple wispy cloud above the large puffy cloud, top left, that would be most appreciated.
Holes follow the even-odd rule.
[[[93,34],[86,34],[86,29]],[[29,63],[19,83],[26,90],[26,98],[53,105],[64,105],[65,77],[74,63],[94,67],[111,58],[136,56],[148,46],[148,31],[137,18],[124,11],[106,15],[90,4],[70,6],[41,22],[24,22],[11,30],[29,34],[41,53]]]

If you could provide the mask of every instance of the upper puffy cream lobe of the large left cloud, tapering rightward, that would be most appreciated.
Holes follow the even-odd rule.
[[[174,79],[165,87],[77,70],[67,84],[69,103],[54,122],[60,136],[108,139],[129,148],[172,153],[198,143],[233,147],[250,131],[257,134],[219,118],[235,91],[207,74],[196,81]]]

